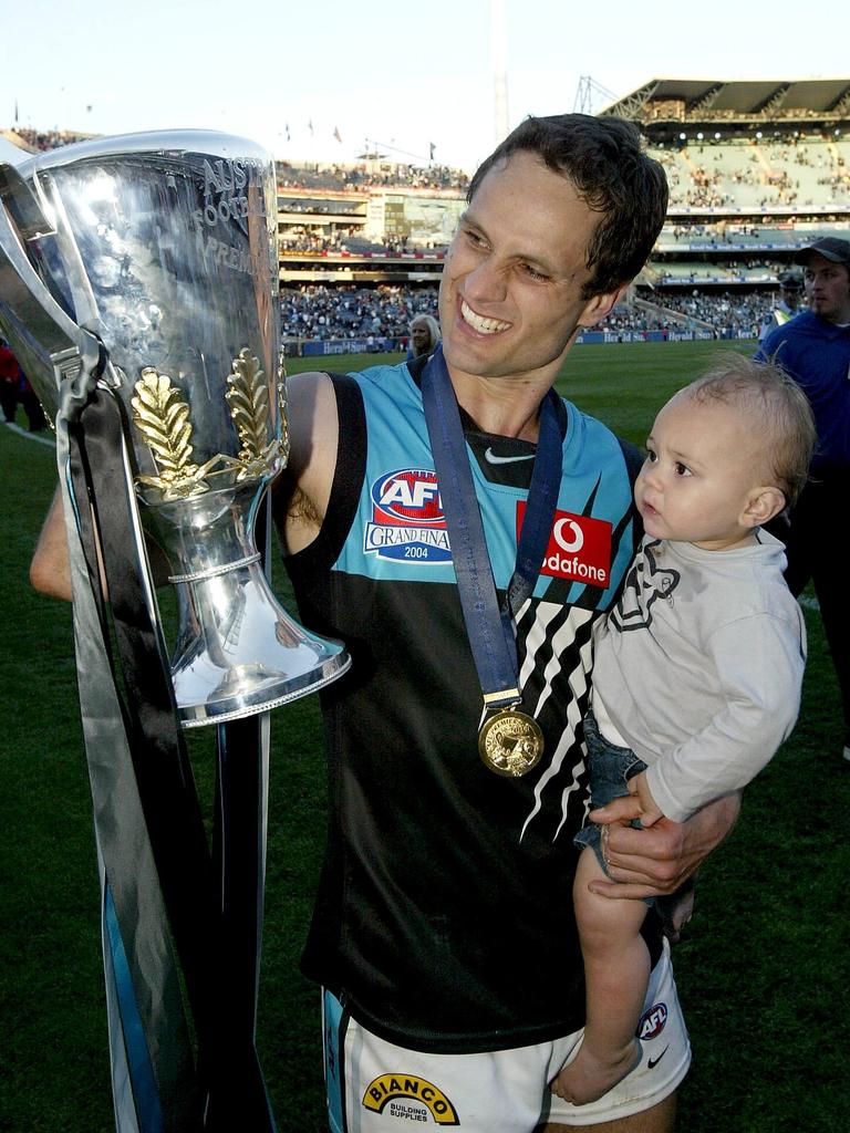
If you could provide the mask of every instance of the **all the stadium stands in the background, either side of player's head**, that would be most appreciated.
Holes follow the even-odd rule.
[[[640,126],[671,195],[628,301],[587,341],[754,338],[794,254],[850,233],[850,79],[655,78],[602,113]],[[31,152],[82,137],[5,134]],[[277,174],[289,352],[406,347],[410,317],[436,309],[467,173],[375,153]]]

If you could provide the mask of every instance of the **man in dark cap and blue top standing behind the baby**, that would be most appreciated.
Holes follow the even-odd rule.
[[[850,240],[828,236],[797,256],[809,309],[772,331],[756,358],[773,359],[805,390],[817,424],[811,479],[777,531],[793,594],[810,580],[841,688],[844,759],[850,761],[850,607],[847,570],[832,536],[850,493]]]

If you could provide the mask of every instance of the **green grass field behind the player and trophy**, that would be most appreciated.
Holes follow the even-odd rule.
[[[719,349],[726,344],[580,347],[560,387],[641,443],[658,406]],[[335,368],[374,360],[328,359]],[[314,366],[300,360],[290,370]],[[0,565],[8,582],[0,1131],[109,1133],[97,880],[70,611],[27,583],[53,461],[48,445],[0,426]],[[275,586],[286,589],[280,578]],[[838,692],[810,598],[806,607],[800,722],[748,789],[738,828],[704,869],[696,915],[675,949],[695,1049],[680,1133],[844,1133],[848,1124],[850,768],[841,760]],[[324,840],[315,698],[278,709],[272,734],[258,1045],[280,1130],[322,1133],[318,1000],[297,972]],[[192,749],[209,798],[212,736],[194,732]]]

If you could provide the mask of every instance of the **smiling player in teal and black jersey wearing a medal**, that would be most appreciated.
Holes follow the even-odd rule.
[[[623,448],[551,390],[640,270],[666,185],[631,125],[570,114],[525,121],[468,205],[442,350],[289,386],[288,569],[354,661],[323,693],[330,836],[303,962],[325,989],[331,1127],[661,1133],[689,1048],[657,926],[640,1065],[587,1106],[550,1091],[584,1020],[590,636],[638,539]],[[674,888],[736,812],[613,829],[600,892]]]

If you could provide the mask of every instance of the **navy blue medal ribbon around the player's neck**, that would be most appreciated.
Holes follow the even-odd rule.
[[[437,346],[422,375],[425,423],[449,530],[460,605],[484,704],[496,710],[519,704],[519,666],[511,615],[534,590],[549,546],[561,484],[562,441],[556,394],[541,404],[539,436],[517,561],[500,607],[484,523],[475,495],[454,389]]]

